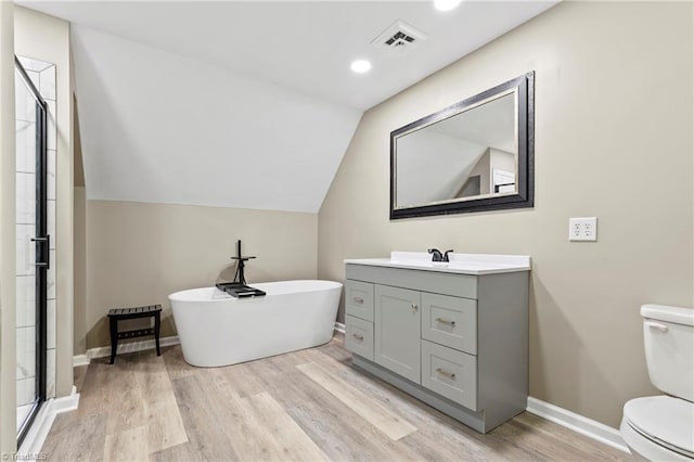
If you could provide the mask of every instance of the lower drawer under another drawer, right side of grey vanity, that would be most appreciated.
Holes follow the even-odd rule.
[[[477,357],[422,341],[422,386],[477,411]]]

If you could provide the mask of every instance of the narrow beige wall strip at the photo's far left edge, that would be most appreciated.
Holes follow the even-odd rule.
[[[0,454],[16,450],[14,144],[13,4],[0,1]]]

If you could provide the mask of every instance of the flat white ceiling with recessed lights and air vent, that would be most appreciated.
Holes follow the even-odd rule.
[[[367,110],[476,50],[558,0],[20,1],[142,44]],[[393,53],[371,44],[401,20],[428,35]],[[368,75],[349,64],[369,59]]]

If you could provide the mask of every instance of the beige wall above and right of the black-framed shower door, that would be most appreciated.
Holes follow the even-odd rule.
[[[73,97],[69,24],[16,7],[15,52],[55,64],[56,218],[55,218],[55,396],[73,387]]]

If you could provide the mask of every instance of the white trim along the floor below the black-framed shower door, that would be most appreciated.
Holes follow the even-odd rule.
[[[61,398],[51,398],[46,401],[39,413],[36,415],[36,420],[31,424],[31,428],[26,434],[22,447],[17,450],[17,458],[14,460],[43,460],[40,457],[41,448],[46,441],[48,433],[51,431],[55,415],[74,411],[79,406],[79,394],[77,387],[73,386],[73,390],[69,396]]]

